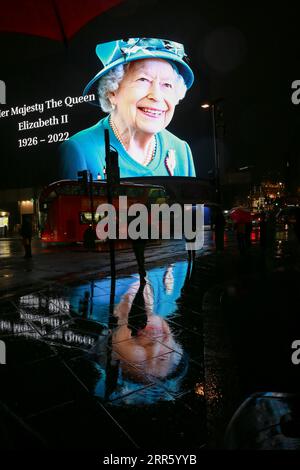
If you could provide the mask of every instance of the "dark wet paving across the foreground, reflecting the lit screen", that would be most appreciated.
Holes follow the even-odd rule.
[[[298,244],[277,233],[262,252],[254,233],[241,257],[226,235],[224,253],[207,235],[194,265],[178,242],[149,250],[145,285],[124,252],[115,282],[106,255],[96,275],[88,254],[81,276],[76,260],[50,281],[37,270],[35,289],[7,289],[2,448],[220,449],[247,396],[298,392]],[[21,261],[7,261],[19,279]]]

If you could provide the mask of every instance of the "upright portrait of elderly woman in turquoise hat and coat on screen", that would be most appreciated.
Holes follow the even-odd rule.
[[[121,177],[195,176],[189,145],[166,130],[194,81],[182,44],[131,38],[99,44],[96,53],[103,68],[83,95],[98,91],[108,116],[60,146],[60,177],[89,170],[105,178],[105,129]]]

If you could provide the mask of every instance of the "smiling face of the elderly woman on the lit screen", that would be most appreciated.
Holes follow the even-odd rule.
[[[176,72],[163,59],[131,62],[117,91],[110,94],[120,130],[156,134],[170,123],[178,103]]]

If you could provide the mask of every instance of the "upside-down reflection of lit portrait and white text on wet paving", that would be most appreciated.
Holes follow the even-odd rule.
[[[25,367],[48,345],[103,403],[172,401],[203,380],[202,370],[199,376],[189,369],[191,353],[201,356],[203,345],[201,336],[188,334],[191,318],[182,300],[188,276],[188,263],[178,261],[149,270],[146,285],[128,275],[113,286],[103,278],[24,295],[2,305],[0,338],[14,348],[16,361],[20,352]],[[29,351],[36,345],[32,357],[22,353],[26,340]]]

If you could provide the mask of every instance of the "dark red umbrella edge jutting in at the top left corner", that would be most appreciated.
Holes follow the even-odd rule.
[[[1,2],[0,31],[70,39],[82,26],[124,0],[9,0]]]

